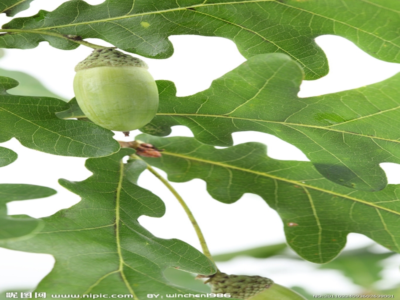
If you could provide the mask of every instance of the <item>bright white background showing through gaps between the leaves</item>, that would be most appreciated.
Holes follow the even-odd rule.
[[[86,0],[98,4],[101,0]],[[29,10],[18,16],[35,14],[39,9],[53,10],[65,0],[35,0]],[[1,23],[7,21],[2,16]],[[143,58],[149,64],[149,71],[155,79],[175,82],[177,95],[184,96],[204,90],[211,81],[245,59],[230,40],[204,36],[171,36],[174,46],[172,57],[163,60]],[[104,41],[89,39],[93,43],[107,45]],[[379,61],[358,49],[348,40],[338,36],[320,36],[317,43],[325,51],[330,66],[327,76],[304,81],[299,96],[307,97],[340,90],[360,87],[378,82],[400,71],[400,64]],[[8,49],[0,59],[0,67],[20,70],[38,78],[48,89],[64,98],[72,98],[74,65],[84,59],[91,49],[79,46],[75,50],[58,50],[46,42],[34,49]],[[137,133],[139,133],[137,131]],[[173,128],[173,135],[192,136],[182,126]],[[135,136],[135,132],[131,132]],[[115,138],[125,138],[116,133]],[[235,144],[245,141],[260,141],[268,145],[267,154],[276,159],[307,160],[294,146],[280,139],[259,132],[238,132],[233,134]],[[2,183],[30,183],[49,186],[58,191],[44,199],[15,201],[8,204],[9,214],[28,214],[34,217],[51,215],[79,201],[79,197],[58,185],[58,178],[83,180],[90,175],[84,166],[84,158],[63,157],[41,153],[20,146],[12,139],[1,146],[13,149],[18,159],[0,168]],[[389,183],[400,183],[399,165],[383,163]],[[162,173],[162,171],[160,171]],[[144,173],[140,185],[162,196],[166,203],[166,213],[162,218],[142,216],[140,223],[153,234],[164,238],[180,238],[200,249],[194,231],[183,210],[166,188]],[[213,200],[205,191],[205,183],[195,179],[188,183],[174,183],[175,188],[187,201],[199,222],[212,253],[240,250],[284,241],[283,228],[276,212],[270,209],[257,195],[245,194],[234,204],[223,204]],[[372,242],[365,236],[350,234],[347,248],[359,247]],[[377,252],[386,251],[375,245]],[[24,253],[0,248],[0,291],[34,286],[52,268],[54,259],[48,254]],[[384,279],[379,286],[389,288],[400,282],[398,265],[400,255],[385,262],[382,273]],[[219,263],[219,268],[227,273],[258,274],[272,278],[275,282],[305,287],[311,293],[357,293],[361,289],[343,277],[338,271],[317,270],[306,261],[285,259],[258,259],[242,257]]]

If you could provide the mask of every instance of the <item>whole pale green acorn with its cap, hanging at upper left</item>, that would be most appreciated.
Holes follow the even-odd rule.
[[[155,116],[157,85],[139,58],[113,48],[96,49],[76,65],[75,71],[76,101],[93,123],[127,132]]]

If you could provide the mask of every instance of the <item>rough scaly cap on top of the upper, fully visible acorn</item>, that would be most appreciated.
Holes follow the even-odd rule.
[[[96,66],[137,66],[148,68],[143,60],[122,53],[114,48],[95,49],[75,66],[75,72]]]

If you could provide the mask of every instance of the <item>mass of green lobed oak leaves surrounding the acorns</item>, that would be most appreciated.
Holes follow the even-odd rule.
[[[0,12],[13,16],[31,1],[0,0]],[[399,27],[397,0],[105,0],[97,5],[70,0],[53,11],[14,17],[0,29],[2,48],[28,49],[47,41],[71,50],[99,38],[126,52],[166,58],[173,53],[168,36],[197,34],[231,39],[247,61],[189,96],[176,96],[173,82],[157,80],[157,114],[136,139],[163,149],[161,157],[120,148],[110,130],[81,119],[74,99],[11,94],[7,90],[18,81],[1,76],[0,142],[15,137],[35,150],[87,157],[92,175],[79,182],[60,179],[81,201],[41,219],[7,216],[5,203],[54,190],[1,183],[0,246],[52,254],[54,268],[37,287],[48,293],[130,293],[144,299],[150,291],[194,292],[170,282],[164,272],[174,267],[211,275],[216,269],[209,257],[178,239],[158,238],[137,221],[165,210],[161,198],[136,182],[154,166],[169,181],[204,180],[210,196],[223,203],[258,194],[281,217],[287,245],[305,260],[333,260],[350,232],[400,252],[400,188],[387,184],[379,166],[400,163],[400,76],[297,96],[302,80],[328,72],[315,37],[339,35],[373,57],[400,62]],[[164,137],[174,125],[187,126],[194,137]],[[273,134],[310,161],[272,159],[257,142],[232,146],[231,134],[247,130]],[[126,156],[130,159],[123,162]],[[15,159],[15,152],[0,147],[0,166]],[[377,263],[362,253],[359,257]],[[343,257],[334,267],[345,268]],[[347,273],[359,278],[355,271]]]

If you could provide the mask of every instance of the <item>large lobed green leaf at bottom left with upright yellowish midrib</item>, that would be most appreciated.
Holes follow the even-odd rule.
[[[123,148],[101,158],[89,158],[86,167],[93,175],[80,181],[59,179],[82,200],[70,208],[42,218],[44,228],[33,238],[0,242],[0,246],[28,252],[49,253],[53,270],[39,283],[37,291],[67,294],[132,294],[145,299],[148,293],[187,293],[163,276],[168,267],[200,274],[215,272],[214,264],[201,252],[178,239],[155,237],[143,228],[140,215],[161,217],[165,207],[160,198],[132,183],[142,161],[122,158],[134,153]]]

